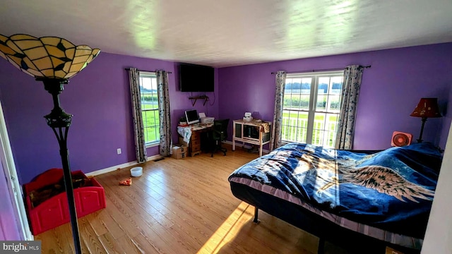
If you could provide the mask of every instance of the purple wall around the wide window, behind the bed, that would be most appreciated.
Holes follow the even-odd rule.
[[[412,133],[414,139],[419,137],[421,121],[410,113],[421,97],[438,97],[440,107],[446,109],[452,99],[451,56],[452,43],[446,43],[220,68],[220,117],[242,119],[245,111],[251,111],[255,118],[273,121],[272,72],[371,65],[362,78],[354,148],[385,149],[391,146],[393,131]],[[444,149],[450,123],[450,114],[428,119],[422,139]],[[232,133],[232,125],[228,133]]]

